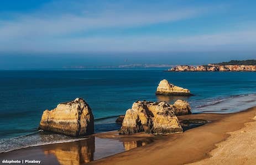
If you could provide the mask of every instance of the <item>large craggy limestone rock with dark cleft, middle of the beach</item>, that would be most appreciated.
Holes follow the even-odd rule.
[[[181,133],[173,106],[166,102],[137,101],[126,111],[119,134],[145,131],[152,134]]]

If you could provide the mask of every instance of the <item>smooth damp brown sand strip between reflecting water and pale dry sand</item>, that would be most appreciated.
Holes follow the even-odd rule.
[[[227,140],[228,133],[240,130],[245,123],[253,122],[256,107],[229,114],[198,114],[191,118],[207,119],[211,115],[212,122],[182,134],[175,134],[165,140],[119,153],[89,164],[186,164],[211,157],[210,152],[216,144]],[[192,117],[193,116],[193,117]],[[180,118],[185,118],[182,116]],[[190,155],[190,157],[187,157]]]

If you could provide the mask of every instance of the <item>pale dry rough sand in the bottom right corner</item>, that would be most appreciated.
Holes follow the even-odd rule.
[[[255,164],[256,118],[245,127],[230,132],[227,140],[218,143],[210,152],[211,157],[191,164]]]

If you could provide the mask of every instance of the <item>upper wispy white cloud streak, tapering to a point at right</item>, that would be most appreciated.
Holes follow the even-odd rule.
[[[196,17],[201,9],[137,13],[97,13],[97,15],[62,14],[57,17],[33,17],[22,15],[13,21],[0,21],[0,37],[55,37],[74,32],[86,32],[106,27],[137,27],[168,23]],[[8,39],[8,38],[7,38]]]

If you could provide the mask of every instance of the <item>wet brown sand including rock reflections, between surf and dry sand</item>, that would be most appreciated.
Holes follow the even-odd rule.
[[[216,144],[224,140],[228,141],[230,135],[227,133],[237,130],[239,133],[239,129],[244,128],[245,123],[254,121],[255,112],[256,107],[230,114],[191,114],[180,116],[179,119],[203,119],[211,122],[186,130],[184,133],[168,136],[144,133],[119,136],[117,131],[111,131],[95,134],[93,138],[87,140],[0,153],[0,158],[1,160],[41,160],[40,164],[192,163],[203,159],[208,160],[207,158],[214,153]],[[98,144],[101,145],[97,146]],[[208,163],[201,162],[201,164]]]

